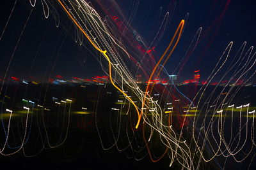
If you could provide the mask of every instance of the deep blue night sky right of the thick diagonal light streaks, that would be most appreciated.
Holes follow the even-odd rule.
[[[152,31],[154,30],[152,27],[157,27],[152,23],[155,23],[154,18],[156,18],[159,7],[162,6],[163,13],[166,13],[171,11],[172,4],[173,1],[140,1],[138,13],[132,22],[132,26],[147,42],[152,41],[153,36],[150,35],[156,34],[156,31]],[[244,41],[248,43],[247,48],[255,45],[255,4],[255,1],[238,0],[177,1],[177,7],[173,12],[168,31],[166,31],[161,43],[156,48],[159,55],[161,55],[180,20],[189,13],[184,34],[166,65],[168,71],[172,73],[177,64],[179,64],[199,27],[202,27],[200,41],[179,74],[181,80],[192,78],[195,69],[200,69],[202,78],[206,78],[230,41],[234,41],[232,52],[237,52]],[[127,2],[122,8],[128,5],[129,3]],[[227,6],[226,10],[225,6]]]

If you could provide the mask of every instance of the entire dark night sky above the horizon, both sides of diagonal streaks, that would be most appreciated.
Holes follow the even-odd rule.
[[[14,0],[10,0],[1,3],[1,6],[3,6],[0,11],[1,34],[14,2]],[[95,3],[95,1],[92,1],[92,3]],[[126,18],[131,17],[131,9],[134,8],[136,1],[117,0],[116,3],[120,6],[120,10]],[[176,8],[172,11],[174,4],[176,4]],[[138,10],[134,15],[131,26],[145,39],[147,44],[150,44],[159,29],[159,21],[163,20],[164,13],[168,11],[173,13],[172,20],[168,23],[168,29],[156,46],[157,54],[161,55],[180,20],[189,13],[182,39],[172,58],[166,64],[166,69],[170,73],[174,71],[175,66],[179,64],[180,59],[188,49],[196,31],[199,27],[202,27],[203,31],[198,46],[184,64],[179,78],[180,80],[191,78],[195,68],[201,70],[202,78],[206,78],[230,41],[234,41],[234,51],[244,41],[248,42],[248,46],[255,45],[255,4],[255,1],[243,0],[183,0],[177,1],[177,3],[172,0],[139,1]],[[161,15],[158,15],[157,11],[160,7],[163,9]],[[91,78],[95,75],[104,74],[99,62],[90,53],[90,50],[93,49],[88,46],[88,42],[84,41],[84,46],[79,46],[74,41],[74,27],[68,17],[60,11],[61,25],[56,28],[54,13],[50,13],[49,18],[45,19],[40,1],[36,3],[36,7],[31,13],[28,24],[17,44],[30,11],[29,1],[17,2],[0,41],[0,78],[3,78],[6,71],[7,76],[17,76],[19,78],[33,76],[37,81],[48,80],[49,77],[54,77],[56,74],[65,78],[71,78],[72,76]],[[99,11],[99,13],[104,15],[102,11]],[[159,18],[158,22],[156,18]],[[86,48],[89,50],[86,50]],[[8,67],[9,62],[10,66]]]

